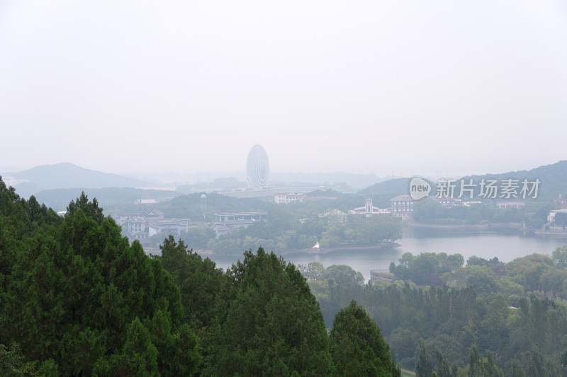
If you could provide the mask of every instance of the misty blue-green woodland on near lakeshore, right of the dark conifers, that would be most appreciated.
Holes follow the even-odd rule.
[[[507,264],[471,257],[466,267],[460,255],[402,255],[395,269],[439,278],[423,287],[401,279],[339,285],[322,266],[303,270],[317,277],[309,284],[327,326],[356,300],[422,376],[567,376],[566,260],[567,246]]]

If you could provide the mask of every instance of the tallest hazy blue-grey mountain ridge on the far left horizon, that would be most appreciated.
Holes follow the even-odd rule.
[[[22,197],[29,197],[43,190],[65,188],[103,188],[103,187],[145,187],[149,182],[127,178],[113,173],[82,168],[72,163],[56,163],[36,166],[19,173],[5,173],[16,180],[25,180],[16,184],[16,192]]]

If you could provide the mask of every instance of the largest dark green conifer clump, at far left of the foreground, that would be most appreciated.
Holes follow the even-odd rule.
[[[82,195],[64,219],[36,213],[33,200],[11,190],[0,202],[1,344],[16,342],[40,370],[63,375],[196,371],[179,288],[161,262],[120,237],[96,201]]]

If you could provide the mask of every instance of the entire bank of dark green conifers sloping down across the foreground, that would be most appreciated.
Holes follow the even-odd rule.
[[[400,376],[350,301],[330,335],[292,264],[149,257],[81,195],[64,218],[0,180],[0,376]]]

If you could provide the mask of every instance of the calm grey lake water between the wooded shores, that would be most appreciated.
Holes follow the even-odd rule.
[[[370,278],[371,269],[388,269],[390,262],[398,264],[398,258],[406,252],[413,255],[420,253],[447,253],[468,257],[476,255],[485,259],[498,257],[503,262],[510,262],[517,257],[533,253],[549,254],[562,245],[567,245],[567,238],[523,236],[517,229],[452,229],[452,228],[405,228],[399,247],[380,249],[339,249],[330,253],[285,253],[283,259],[294,264],[306,265],[309,262],[321,262],[330,265],[349,265],[361,272],[364,278]],[[218,267],[226,269],[242,255],[208,255]]]

